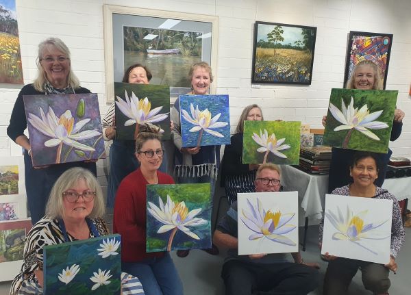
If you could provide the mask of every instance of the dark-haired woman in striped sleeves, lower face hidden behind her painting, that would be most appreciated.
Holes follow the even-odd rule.
[[[133,64],[125,70],[123,83],[149,84],[151,78],[150,70],[142,64]],[[115,124],[116,104],[113,102],[108,108],[101,123],[103,124],[103,138],[113,140],[110,146],[110,178],[108,180],[107,205],[114,206],[114,198],[117,188],[124,177],[138,168],[138,161],[134,156],[135,140],[116,140]],[[166,171],[166,161],[163,161],[160,170]]]

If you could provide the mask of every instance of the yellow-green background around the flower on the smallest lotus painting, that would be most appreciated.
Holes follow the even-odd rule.
[[[245,121],[242,163],[262,164],[265,152],[259,153],[257,151],[261,146],[253,140],[252,136],[253,133],[260,136],[260,130],[264,134],[264,129],[266,129],[269,136],[274,133],[277,140],[286,138],[283,144],[290,145],[290,149],[279,151],[287,156],[286,159],[277,157],[270,152],[266,162],[274,164],[299,164],[300,126],[301,122]]]

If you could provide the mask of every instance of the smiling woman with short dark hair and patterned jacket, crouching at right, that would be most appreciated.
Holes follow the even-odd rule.
[[[381,198],[393,200],[393,219],[391,223],[391,246],[390,262],[386,265],[376,264],[368,261],[356,259],[347,259],[342,257],[330,256],[325,253],[325,259],[328,262],[327,272],[324,279],[324,294],[343,295],[348,293],[348,287],[352,278],[360,268],[362,272],[362,282],[366,290],[373,294],[388,294],[390,279],[389,271],[397,271],[397,257],[399,249],[405,240],[405,232],[401,220],[401,212],[397,198],[387,190],[375,185],[378,177],[379,157],[375,153],[356,153],[353,156],[352,164],[349,168],[350,176],[353,183],[336,188],[332,194],[339,194],[342,197],[363,197],[363,198]],[[320,248],[323,240],[323,221],[319,229]]]

